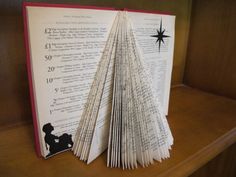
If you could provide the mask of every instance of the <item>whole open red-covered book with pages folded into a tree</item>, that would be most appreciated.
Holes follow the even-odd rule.
[[[24,4],[38,154],[146,167],[168,158],[171,15]]]

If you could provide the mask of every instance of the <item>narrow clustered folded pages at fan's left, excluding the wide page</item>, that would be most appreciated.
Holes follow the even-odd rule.
[[[112,70],[114,68],[114,46],[116,45],[116,41],[114,39],[117,35],[116,29],[118,25],[118,17],[119,16],[116,17],[108,37],[108,41],[103,51],[98,70],[95,74],[95,79],[89,92],[88,100],[75,136],[75,144],[72,150],[76,156],[80,157],[80,159],[84,161],[88,160],[90,154],[89,151],[93,148],[91,147],[91,144],[93,144],[93,137],[96,136],[94,135],[94,130],[96,129],[97,119],[99,119],[100,116],[99,112],[102,111],[101,108],[103,107],[104,102],[108,101],[109,103],[111,96],[109,94],[111,94],[111,87],[113,84]],[[102,116],[103,115],[104,114],[102,114]],[[109,120],[110,115],[105,114],[105,116]],[[102,151],[104,151],[104,149],[102,149]],[[93,151],[91,153],[93,153]],[[99,152],[98,155],[100,155],[100,153],[101,152]],[[94,158],[96,157],[93,157],[93,159],[89,158],[88,162],[94,160]]]

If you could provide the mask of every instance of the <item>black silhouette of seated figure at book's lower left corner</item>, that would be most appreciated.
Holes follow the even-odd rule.
[[[49,154],[46,157],[49,157],[57,152],[66,150],[73,146],[72,135],[64,133],[63,135],[58,137],[51,134],[53,130],[54,127],[51,125],[51,123],[47,123],[43,126],[46,149],[49,149]]]

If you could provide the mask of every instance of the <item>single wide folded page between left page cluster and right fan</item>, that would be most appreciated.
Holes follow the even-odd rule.
[[[94,127],[93,138],[91,141],[91,147],[89,150],[89,156],[87,163],[92,162],[97,158],[104,150],[107,149],[109,125],[111,119],[112,110],[112,89],[114,82],[114,60],[117,45],[117,26],[119,25],[119,13],[116,16],[113,27],[109,34],[109,39],[106,43],[106,48],[103,53],[103,58],[108,57],[108,68],[106,73],[106,79],[104,83],[103,93],[101,96],[101,102],[99,105],[99,111],[97,114],[96,125]]]

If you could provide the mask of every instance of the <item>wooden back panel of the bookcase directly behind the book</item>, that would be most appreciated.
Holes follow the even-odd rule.
[[[31,2],[37,2],[31,0]],[[40,2],[40,1],[39,1]],[[191,1],[188,0],[48,0],[48,3],[79,3],[141,10],[168,11],[176,15],[176,45],[172,84],[182,83]],[[31,121],[24,49],[22,1],[0,1],[0,128]]]

